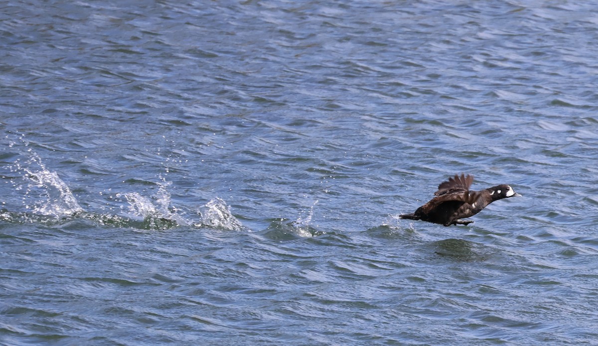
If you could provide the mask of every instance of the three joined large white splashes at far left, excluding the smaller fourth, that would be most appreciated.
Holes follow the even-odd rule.
[[[24,140],[23,143],[28,146]],[[11,143],[11,146],[14,144]],[[230,206],[219,197],[208,201],[195,213],[191,213],[191,216],[173,206],[172,196],[168,191],[171,183],[161,174],[157,183],[158,191],[149,197],[139,192],[108,194],[106,197],[109,200],[121,206],[102,207],[103,212],[84,210],[59,174],[47,169],[41,157],[30,148],[27,148],[27,152],[26,160],[17,160],[10,166],[10,182],[15,191],[22,192],[22,205],[20,208],[8,206],[15,210],[8,210],[6,206],[1,209],[0,219],[4,221],[55,224],[80,218],[119,228],[169,229],[194,226],[232,231],[248,230],[233,216]],[[24,211],[17,212],[16,209]],[[199,218],[194,218],[193,215]]]

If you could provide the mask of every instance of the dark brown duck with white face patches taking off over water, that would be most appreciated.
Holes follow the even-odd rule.
[[[493,201],[521,197],[511,186],[505,184],[471,191],[469,186],[472,182],[474,176],[470,174],[455,174],[454,177],[449,177],[449,180],[438,185],[438,191],[434,192],[436,197],[411,214],[399,215],[399,219],[421,220],[444,226],[469,225],[473,221],[462,218],[476,215]]]

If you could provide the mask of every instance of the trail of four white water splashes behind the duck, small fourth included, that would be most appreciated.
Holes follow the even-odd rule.
[[[81,206],[72,189],[60,178],[59,173],[48,169],[42,158],[32,151],[24,135],[11,141],[10,148],[20,144],[25,147],[24,157],[17,158],[10,165],[10,181],[14,192],[20,198],[14,203],[2,203],[0,220],[13,223],[43,223],[56,225],[76,219],[84,219],[104,226],[134,229],[172,229],[179,226],[213,228],[229,231],[249,231],[231,212],[231,207],[219,197],[211,198],[196,210],[185,210],[175,206],[169,190],[172,182],[165,175],[158,174],[157,191],[148,190],[113,192],[100,191],[104,201],[89,200]],[[170,160],[170,158],[168,159]],[[7,177],[5,177],[7,178]],[[75,189],[78,191],[78,189]],[[14,200],[14,198],[11,198]],[[307,238],[326,232],[313,224],[318,200],[300,211],[296,219],[274,218],[263,233],[271,238]],[[95,208],[94,208],[95,206]],[[94,208],[95,210],[89,210]],[[24,210],[22,210],[24,209]]]

